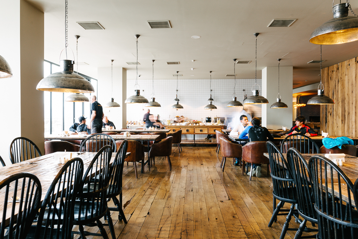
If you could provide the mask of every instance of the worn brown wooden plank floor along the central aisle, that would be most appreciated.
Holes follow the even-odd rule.
[[[271,228],[267,226],[272,215],[272,181],[266,165],[263,177],[249,181],[240,167],[232,165],[232,159],[227,159],[222,172],[215,145],[182,148],[179,153],[173,146],[171,171],[168,162],[159,157],[150,172],[145,166],[141,174],[137,166],[136,179],[133,164],[125,164],[123,202],[128,224],[118,221],[117,212],[111,214],[118,239],[280,238],[285,216],[279,216]],[[293,218],[290,228],[298,226]],[[108,226],[105,229],[111,238]],[[85,230],[98,232],[96,227]],[[285,238],[294,238],[295,233],[288,231]]]

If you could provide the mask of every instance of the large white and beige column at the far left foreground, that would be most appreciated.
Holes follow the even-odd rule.
[[[24,0],[1,1],[3,23],[0,55],[13,77],[0,79],[0,156],[10,164],[9,146],[16,137],[32,140],[44,154],[44,94],[37,91],[44,67],[44,13]]]

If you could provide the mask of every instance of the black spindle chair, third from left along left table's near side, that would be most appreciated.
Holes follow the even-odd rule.
[[[108,219],[112,238],[116,238],[111,215],[107,213],[106,201],[111,157],[112,147],[110,145],[103,146],[83,175],[78,199],[74,205],[74,225],[78,225],[79,232],[73,232],[81,234],[81,238],[86,238],[86,235],[102,235],[103,238],[108,239],[106,230],[100,221],[105,216]],[[98,226],[101,234],[84,231],[83,226]]]

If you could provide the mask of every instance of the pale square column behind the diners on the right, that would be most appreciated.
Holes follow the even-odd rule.
[[[266,67],[262,69],[262,93],[261,95],[270,103],[262,105],[262,126],[277,130],[285,126],[292,126],[292,74],[293,67],[280,66],[280,95],[281,102],[287,104],[288,108],[271,109],[270,106],[276,102],[279,89],[278,67]]]

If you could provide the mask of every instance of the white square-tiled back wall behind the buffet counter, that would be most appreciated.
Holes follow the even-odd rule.
[[[141,95],[151,101],[152,93],[152,81],[139,79],[139,85],[141,89]],[[127,97],[134,95],[134,80],[127,80]],[[176,79],[170,80],[155,80],[154,81],[154,93],[155,101],[161,104],[161,107],[150,107],[150,112],[154,115],[159,114],[160,119],[174,119],[175,116],[189,117],[190,119],[203,120],[205,117],[235,117],[241,115],[241,107],[226,107],[229,101],[232,101],[232,94],[234,93],[233,79],[212,79],[212,98],[213,103],[217,109],[210,111],[204,109],[204,107],[210,102],[210,79],[205,80],[189,80],[179,79],[178,81],[178,98],[179,104],[184,108],[171,109],[170,107],[175,104],[175,89]],[[255,84],[255,79],[236,79],[236,95],[237,100],[243,102],[244,92],[247,96],[251,96],[251,87]],[[257,79],[257,84],[261,86],[261,79]],[[142,91],[144,90],[144,92]],[[260,93],[261,95],[261,93]],[[146,112],[144,104],[127,104],[127,120],[139,121],[143,118],[143,114]],[[261,105],[245,105],[245,111],[251,114],[251,116],[261,117]],[[206,136],[197,135],[195,139],[204,138]],[[192,135],[187,135],[187,139],[192,139]],[[183,136],[183,139],[185,137]]]

